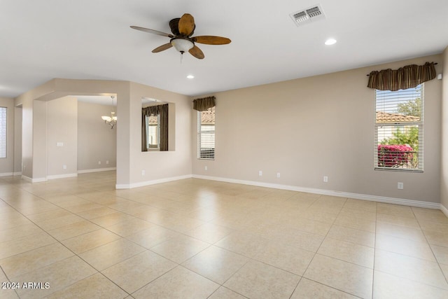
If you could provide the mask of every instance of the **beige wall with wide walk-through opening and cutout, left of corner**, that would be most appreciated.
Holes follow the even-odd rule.
[[[127,81],[53,79],[15,99],[22,104],[23,175],[34,181],[46,176],[47,103],[67,95],[116,95],[118,125],[116,131],[117,186],[132,186],[190,176],[191,119],[189,97]],[[170,118],[170,151],[141,153],[141,98],[153,97],[169,102],[175,116]],[[45,125],[44,125],[45,124]],[[115,129],[114,129],[115,130]],[[173,146],[175,146],[175,151]],[[59,165],[57,163],[57,165]],[[141,175],[141,170],[146,174]]]

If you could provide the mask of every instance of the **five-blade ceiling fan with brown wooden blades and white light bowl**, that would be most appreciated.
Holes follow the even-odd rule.
[[[182,15],[182,18],[175,18],[169,21],[169,27],[171,28],[171,32],[173,34],[167,34],[165,32],[144,27],[131,26],[132,29],[167,36],[171,39],[169,43],[165,43],[165,45],[155,48],[153,53],[159,53],[174,46],[174,48],[176,48],[176,50],[178,50],[181,54],[188,51],[197,59],[202,60],[204,59],[204,53],[202,53],[202,50],[198,48],[195,43],[204,43],[206,45],[225,45],[231,42],[230,39],[221,36],[192,36],[195,32],[196,25],[193,15],[190,15],[189,13]]]

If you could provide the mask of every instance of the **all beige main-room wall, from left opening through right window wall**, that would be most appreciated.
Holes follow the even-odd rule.
[[[440,141],[442,81],[425,83],[423,174],[373,169],[374,90],[365,87],[365,75],[372,70],[426,61],[438,62],[436,69],[440,73],[447,64],[447,50],[443,55],[218,92],[214,161],[195,158],[197,118],[190,97],[125,81],[54,79],[15,99],[15,105],[22,104],[23,112],[23,174],[40,178],[43,169],[46,171],[43,162],[46,166],[48,132],[42,124],[47,104],[36,99],[113,93],[118,98],[119,117],[117,185],[123,188],[193,173],[425,202],[440,202],[442,194],[446,206],[445,156],[440,167],[441,148],[447,147],[447,141]],[[445,100],[446,90],[444,83]],[[170,142],[175,144],[175,151],[140,151],[142,97],[174,105],[175,117],[170,118],[170,127],[174,127],[175,134],[170,136],[174,138]],[[448,112],[442,108],[443,137],[448,140]],[[146,174],[142,175],[141,170]],[[259,170],[263,176],[258,176]],[[276,177],[277,172],[280,178]],[[323,182],[323,176],[328,176],[328,183]],[[397,189],[398,181],[404,183],[404,190]]]

